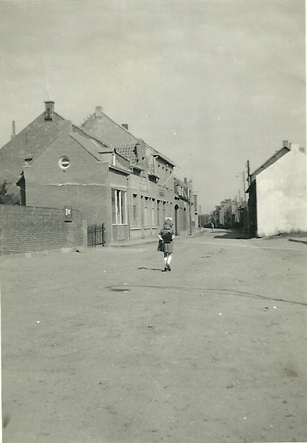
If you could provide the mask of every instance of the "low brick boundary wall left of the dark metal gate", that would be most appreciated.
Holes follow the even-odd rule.
[[[0,205],[0,254],[20,254],[62,248],[87,247],[87,222],[73,210]]]

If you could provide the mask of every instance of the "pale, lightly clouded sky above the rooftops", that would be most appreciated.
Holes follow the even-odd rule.
[[[0,1],[0,146],[55,101],[95,106],[193,179],[202,212],[306,146],[302,0]],[[239,176],[237,177],[237,175]]]

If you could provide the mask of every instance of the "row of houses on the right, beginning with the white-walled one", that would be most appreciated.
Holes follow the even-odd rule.
[[[306,233],[306,179],[306,149],[284,140],[267,161],[253,173],[248,171],[248,202],[221,202],[211,221],[215,226],[240,228],[250,237]]]

